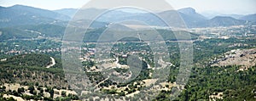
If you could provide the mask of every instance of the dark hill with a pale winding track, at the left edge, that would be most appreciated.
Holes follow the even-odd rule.
[[[64,35],[66,27],[61,25],[21,25],[15,27],[0,28],[0,42],[10,39],[32,39],[38,36],[59,37]]]

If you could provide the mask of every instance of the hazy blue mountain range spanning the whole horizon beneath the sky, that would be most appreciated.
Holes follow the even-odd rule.
[[[90,22],[94,20],[92,15],[106,11],[107,9],[86,8],[79,12],[84,13],[82,18],[84,21]],[[15,5],[12,7],[0,7],[0,27],[9,27],[17,25],[41,25],[41,24],[55,24],[67,25],[68,20],[71,20],[73,15],[78,12],[76,8],[63,8],[59,10],[47,10],[42,8],[34,8],[24,5]],[[172,22],[173,26],[178,26],[177,20],[172,18],[173,14],[179,14],[184,23],[189,27],[216,27],[216,26],[230,26],[230,25],[245,25],[244,21],[255,22],[256,14],[250,14],[240,17],[239,19],[216,16],[212,19],[207,19],[196,12],[195,8],[181,8],[178,10],[162,11],[154,13],[160,15],[165,20]],[[151,13],[129,13],[120,10],[109,11],[103,14],[96,20],[96,27],[104,27],[108,23],[119,22],[122,20],[140,20],[146,22],[148,25],[165,26],[166,24],[160,20],[158,16]],[[236,16],[236,18],[239,15]],[[105,22],[105,23],[102,23]],[[253,23],[252,23],[253,24]],[[255,24],[255,23],[254,23]],[[79,24],[81,25],[81,24]]]

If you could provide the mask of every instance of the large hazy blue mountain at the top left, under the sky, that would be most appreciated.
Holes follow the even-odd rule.
[[[67,15],[23,5],[15,5],[8,8],[1,7],[0,12],[0,27],[49,23],[65,25],[66,22],[63,20],[69,20]]]

